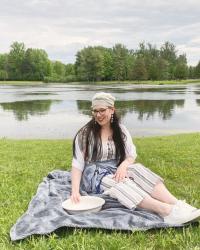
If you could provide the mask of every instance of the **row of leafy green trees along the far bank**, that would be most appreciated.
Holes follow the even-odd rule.
[[[200,61],[188,66],[185,54],[178,55],[174,44],[160,48],[140,43],[136,50],[123,44],[112,48],[88,46],[78,51],[74,64],[51,61],[43,49],[14,42],[8,53],[0,54],[0,80],[45,82],[124,81],[199,79]]]

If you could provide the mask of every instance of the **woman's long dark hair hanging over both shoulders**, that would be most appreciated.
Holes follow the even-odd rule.
[[[125,139],[126,135],[123,133],[120,125],[119,125],[119,117],[114,112],[113,114],[113,122],[111,123],[111,128],[113,130],[113,141],[116,148],[116,159],[118,165],[125,159]],[[76,158],[75,153],[75,140],[76,137],[81,135],[81,150],[84,152],[84,160],[87,161],[89,159],[89,145],[92,143],[92,137],[94,140],[93,151],[92,151],[92,161],[96,161],[98,154],[98,146],[100,145],[101,149],[101,126],[95,122],[95,119],[92,118],[84,127],[82,127],[74,137],[73,140],[73,156]]]

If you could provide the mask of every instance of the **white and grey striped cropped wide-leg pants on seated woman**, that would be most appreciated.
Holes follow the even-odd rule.
[[[140,163],[130,165],[127,172],[128,178],[121,182],[116,182],[113,174],[106,175],[101,180],[101,188],[104,194],[134,209],[146,196],[151,195],[154,186],[163,179]]]

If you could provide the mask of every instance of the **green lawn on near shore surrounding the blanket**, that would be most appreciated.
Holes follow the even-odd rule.
[[[200,133],[137,138],[138,161],[165,179],[179,198],[200,207]],[[0,249],[200,249],[200,225],[119,232],[62,228],[11,242],[9,230],[27,209],[42,178],[70,169],[69,140],[0,140]]]

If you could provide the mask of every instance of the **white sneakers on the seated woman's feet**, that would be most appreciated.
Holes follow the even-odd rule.
[[[200,219],[200,209],[191,210],[186,206],[180,207],[180,204],[175,204],[171,213],[163,219],[168,224],[185,224]]]

